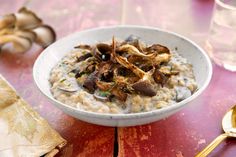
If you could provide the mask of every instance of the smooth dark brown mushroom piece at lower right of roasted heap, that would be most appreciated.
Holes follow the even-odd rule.
[[[140,80],[132,85],[132,88],[137,93],[145,96],[155,96],[156,91],[153,89],[152,84],[148,80]]]

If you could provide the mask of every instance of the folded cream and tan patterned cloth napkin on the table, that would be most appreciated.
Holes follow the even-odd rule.
[[[65,144],[0,75],[0,157],[51,157]]]

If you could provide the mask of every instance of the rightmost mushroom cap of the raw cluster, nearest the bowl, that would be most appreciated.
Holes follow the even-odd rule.
[[[54,30],[48,25],[39,26],[33,29],[33,32],[35,32],[37,35],[35,42],[44,48],[56,40],[56,34]]]

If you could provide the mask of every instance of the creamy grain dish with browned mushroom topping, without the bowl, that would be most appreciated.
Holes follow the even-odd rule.
[[[49,82],[53,97],[66,105],[114,114],[158,110],[197,90],[186,58],[132,35],[75,46],[53,67]]]

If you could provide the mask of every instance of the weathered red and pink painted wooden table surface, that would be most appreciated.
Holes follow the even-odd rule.
[[[213,3],[213,0],[34,0],[27,4],[22,0],[0,0],[0,14],[27,4],[56,29],[58,39],[98,26],[136,24],[177,32],[204,47]],[[23,55],[0,53],[0,73],[68,140],[58,156],[193,157],[222,132],[221,119],[236,103],[236,73],[213,65],[213,78],[206,91],[167,119],[118,129],[89,124],[55,108],[36,88],[32,66],[41,51],[34,46]],[[236,140],[224,141],[210,156],[236,156]]]

